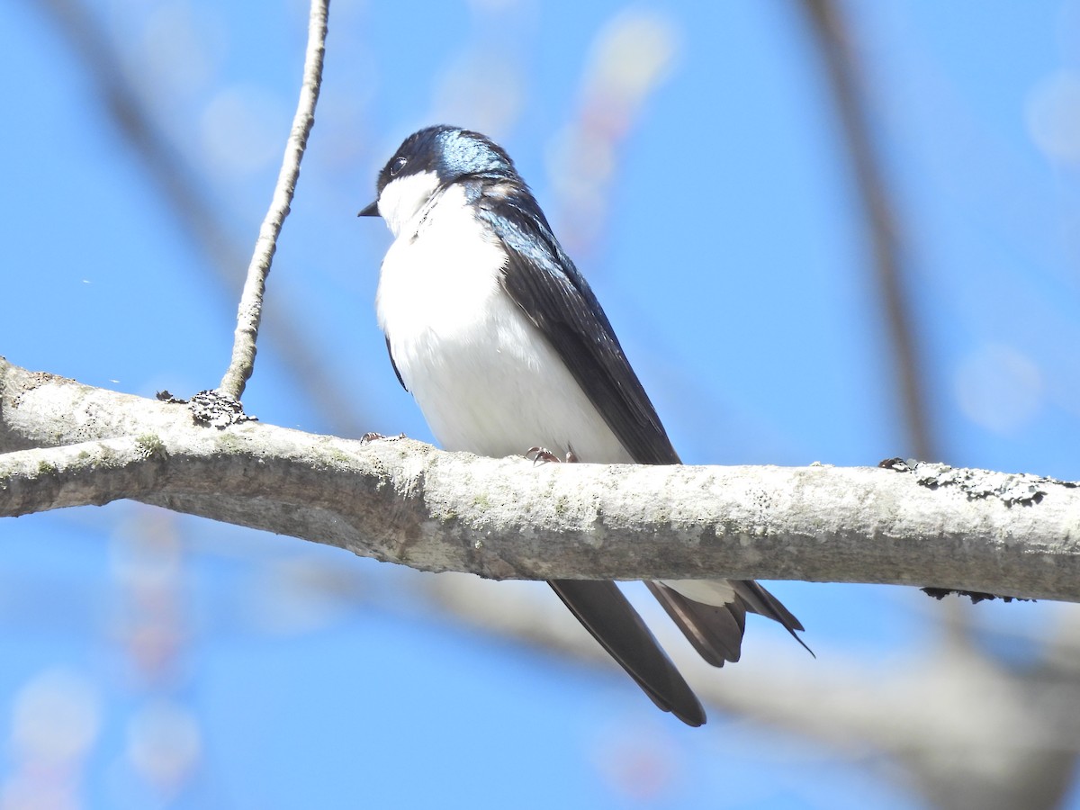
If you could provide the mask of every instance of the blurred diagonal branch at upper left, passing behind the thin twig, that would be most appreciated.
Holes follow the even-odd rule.
[[[140,161],[146,177],[160,190],[178,227],[205,254],[208,264],[197,266],[215,270],[210,278],[232,300],[233,283],[239,269],[246,264],[244,251],[221,227],[227,217],[211,202],[195,171],[154,124],[146,102],[127,80],[97,18],[79,0],[44,0],[33,8],[49,12],[72,52],[82,59],[86,77],[96,83],[111,120],[131,146],[130,153]],[[362,434],[366,428],[353,397],[327,370],[306,329],[287,314],[286,306],[287,301],[282,301],[268,313],[267,338],[299,380],[297,388],[319,408],[332,429],[346,435]]]

